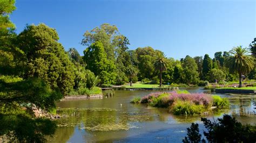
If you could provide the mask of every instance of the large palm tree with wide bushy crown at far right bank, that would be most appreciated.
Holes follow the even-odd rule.
[[[234,47],[229,53],[230,56],[225,60],[225,65],[231,73],[239,74],[239,87],[242,87],[242,74],[250,73],[254,67],[254,58],[249,55],[250,51],[247,48],[241,46]]]

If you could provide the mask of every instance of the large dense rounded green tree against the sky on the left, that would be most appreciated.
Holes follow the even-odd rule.
[[[29,25],[17,37],[17,47],[24,51],[28,70],[25,78],[43,78],[52,88],[59,88],[65,95],[72,88],[75,78],[73,64],[66,55],[56,30],[44,24]]]

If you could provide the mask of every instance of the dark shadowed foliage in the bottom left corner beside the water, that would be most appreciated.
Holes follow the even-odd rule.
[[[10,142],[45,142],[45,135],[55,133],[55,121],[46,118],[31,118],[25,113],[0,113],[0,135]]]

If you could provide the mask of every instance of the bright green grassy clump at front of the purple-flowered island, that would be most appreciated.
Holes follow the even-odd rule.
[[[170,111],[174,115],[200,115],[205,111],[203,105],[196,105],[190,101],[176,101],[171,106]]]

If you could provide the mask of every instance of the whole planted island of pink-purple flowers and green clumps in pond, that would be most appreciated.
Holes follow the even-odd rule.
[[[200,115],[212,106],[228,107],[227,98],[209,94],[190,94],[188,91],[155,92],[142,98],[133,98],[131,103],[148,104],[156,108],[169,108],[174,115]]]

